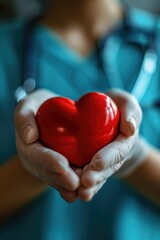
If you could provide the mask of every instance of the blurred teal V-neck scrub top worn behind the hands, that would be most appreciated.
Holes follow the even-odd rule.
[[[16,154],[14,92],[22,83],[25,25],[23,21],[0,25],[1,164]],[[39,88],[47,88],[72,99],[78,99],[86,92],[105,92],[110,88],[99,67],[96,51],[82,58],[56,33],[40,25],[35,29],[35,41]],[[119,50],[116,64],[128,90],[131,88],[128,79],[133,75],[136,79],[142,58],[142,52],[136,46],[126,44]],[[144,103],[160,94],[158,64]],[[156,147],[160,147],[159,119],[158,109],[144,111],[141,127],[141,134]],[[115,177],[111,177],[89,203],[77,201],[68,204],[54,189],[49,188],[0,226],[0,239],[159,240],[160,210]]]

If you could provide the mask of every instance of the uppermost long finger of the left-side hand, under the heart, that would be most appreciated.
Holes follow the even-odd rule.
[[[68,160],[61,154],[43,147],[39,142],[25,145],[19,137],[17,144],[23,165],[33,175],[41,178],[49,185],[59,185],[73,191],[79,187],[79,177],[70,168]]]

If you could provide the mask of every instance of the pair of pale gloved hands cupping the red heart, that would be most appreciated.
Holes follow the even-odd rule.
[[[127,145],[123,151],[125,158],[134,146],[136,130],[142,118],[141,110],[136,99],[130,94],[117,90],[108,92],[108,94],[115,101],[122,115],[120,134],[116,141],[121,146],[125,145],[126,147]],[[51,94],[51,96],[55,95]],[[99,151],[84,169],[71,169],[66,158],[44,148],[37,142],[39,133],[35,114],[43,100],[51,96],[46,90],[38,90],[17,106],[15,126],[19,156],[22,164],[32,175],[43,179],[48,185],[57,189],[66,201],[74,202],[78,197],[83,201],[90,201],[107,178],[122,166],[123,159],[121,161],[119,153],[113,151],[114,142]],[[131,116],[136,119],[136,122],[128,120],[131,119]],[[113,152],[113,155],[107,153],[110,151]],[[104,160],[103,155],[107,155],[108,159]],[[96,159],[98,159],[98,163],[96,163]],[[106,162],[109,163],[109,167]]]

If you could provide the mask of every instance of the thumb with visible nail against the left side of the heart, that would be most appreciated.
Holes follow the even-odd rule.
[[[33,101],[20,102],[15,110],[14,122],[17,133],[26,144],[35,142],[39,137],[35,120],[35,106]]]

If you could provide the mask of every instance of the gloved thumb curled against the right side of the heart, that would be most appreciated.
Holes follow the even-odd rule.
[[[121,112],[120,131],[126,136],[132,136],[142,120],[142,110],[137,99],[122,90],[112,90],[108,95],[115,101]]]

